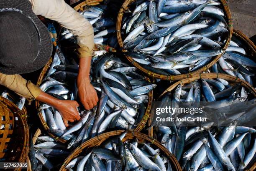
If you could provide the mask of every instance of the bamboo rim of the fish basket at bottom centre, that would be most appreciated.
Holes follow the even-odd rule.
[[[64,161],[63,165],[60,168],[60,171],[67,171],[67,169],[65,169],[65,167],[67,166],[67,164],[75,157],[77,157],[80,153],[83,152],[84,149],[88,149],[88,148],[92,148],[95,146],[100,146],[101,143],[103,143],[105,140],[107,140],[108,138],[112,137],[112,136],[117,136],[120,135],[121,133],[123,133],[124,130],[118,130],[118,131],[111,131],[111,132],[107,132],[107,133],[103,133],[100,136],[94,137],[86,142],[84,142],[83,144],[81,144],[79,147],[77,147]],[[164,146],[161,145],[161,143],[159,143],[158,141],[156,141],[155,139],[152,139],[150,137],[148,137],[147,135],[143,134],[143,133],[138,133],[138,132],[128,132],[125,136],[125,138],[123,138],[123,142],[126,141],[127,139],[133,139],[134,137],[138,138],[139,142],[150,142],[152,144],[154,144],[157,148],[159,148],[164,154],[165,156],[169,159],[169,161],[172,162],[172,169],[176,170],[176,171],[182,171],[181,167],[179,166],[179,163],[177,161],[177,159],[174,157],[174,155],[172,153],[170,153]]]

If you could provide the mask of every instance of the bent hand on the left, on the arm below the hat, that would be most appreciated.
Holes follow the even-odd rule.
[[[79,119],[81,118],[77,111],[78,106],[79,104],[77,103],[77,101],[68,101],[68,100],[67,101],[59,100],[58,105],[54,106],[61,114],[63,122],[66,127],[69,126],[68,121],[69,122],[79,121]]]

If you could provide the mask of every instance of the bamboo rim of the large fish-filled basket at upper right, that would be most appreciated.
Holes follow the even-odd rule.
[[[126,10],[128,10],[130,3],[132,3],[135,0],[125,0],[125,2],[123,3],[122,7],[120,8],[119,14],[118,14],[118,18],[117,18],[117,23],[116,23],[116,28],[117,28],[117,38],[118,38],[118,43],[120,45],[120,47],[123,47],[123,38],[121,36],[121,24],[122,24],[122,18],[123,18],[123,14],[125,13]],[[226,3],[225,0],[219,0],[222,6],[222,9],[225,13],[226,16],[226,21],[228,23],[228,38],[227,41],[225,42],[224,48],[223,50],[226,50],[229,42],[231,40],[232,37],[232,33],[233,33],[233,25],[232,25],[232,18],[231,18],[231,13],[230,10],[228,8],[228,4]],[[123,50],[124,52],[126,52],[127,50]],[[219,58],[221,57],[222,54],[216,56],[210,63],[208,63],[206,66],[195,70],[194,72],[191,73],[187,73],[187,74],[180,74],[180,75],[160,75],[157,73],[153,73],[149,70],[146,70],[145,68],[143,68],[139,63],[137,63],[135,60],[133,60],[133,58],[131,58],[130,56],[126,55],[126,58],[135,66],[137,67],[139,70],[143,71],[144,73],[146,73],[147,75],[149,75],[150,77],[153,78],[158,78],[161,80],[182,80],[185,78],[191,78],[193,75],[196,75],[198,73],[202,73],[203,71],[206,71],[208,68],[210,68],[212,65],[214,65]]]

